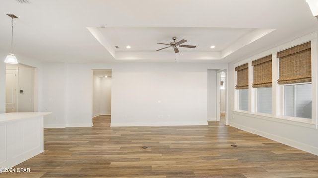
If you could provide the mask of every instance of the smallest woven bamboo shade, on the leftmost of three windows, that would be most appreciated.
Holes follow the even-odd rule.
[[[248,89],[248,63],[235,68],[237,71],[237,85],[235,89]]]

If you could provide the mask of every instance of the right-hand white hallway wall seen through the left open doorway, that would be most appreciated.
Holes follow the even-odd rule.
[[[111,78],[101,78],[100,114],[111,115]]]

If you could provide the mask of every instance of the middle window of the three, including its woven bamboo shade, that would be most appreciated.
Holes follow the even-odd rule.
[[[252,61],[253,88],[257,89],[256,111],[272,114],[272,55]]]

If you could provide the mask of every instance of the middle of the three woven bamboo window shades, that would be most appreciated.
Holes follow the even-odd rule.
[[[252,61],[254,66],[253,88],[272,86],[272,55]]]

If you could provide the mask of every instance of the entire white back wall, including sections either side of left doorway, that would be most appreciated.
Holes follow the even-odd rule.
[[[52,112],[45,127],[92,126],[92,69],[112,69],[112,126],[207,124],[207,71],[214,68],[227,64],[45,63],[39,111]]]

